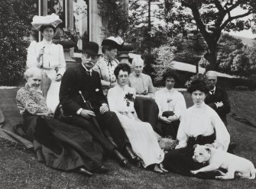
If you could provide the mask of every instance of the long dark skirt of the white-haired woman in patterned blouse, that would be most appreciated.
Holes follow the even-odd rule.
[[[37,159],[51,168],[71,171],[79,167],[93,171],[102,166],[102,147],[85,130],[52,117],[24,113],[21,136],[33,139]]]

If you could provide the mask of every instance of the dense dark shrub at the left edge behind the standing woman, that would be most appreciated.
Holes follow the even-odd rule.
[[[34,1],[5,0],[0,6],[0,85],[13,85],[23,75]],[[26,38],[27,37],[27,38]]]

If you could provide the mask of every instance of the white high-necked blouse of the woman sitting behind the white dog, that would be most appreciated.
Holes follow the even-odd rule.
[[[186,147],[187,139],[190,136],[210,136],[213,133],[215,133],[216,139],[212,145],[227,151],[230,136],[219,115],[204,102],[200,106],[193,105],[193,107],[186,109],[180,121],[177,133],[179,144],[176,148]]]

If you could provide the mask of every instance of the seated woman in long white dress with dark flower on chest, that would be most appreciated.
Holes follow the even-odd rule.
[[[118,85],[109,89],[109,108],[117,114],[131,148],[142,159],[144,168],[151,165],[154,171],[164,172],[159,165],[164,159],[164,152],[157,143],[154,130],[150,123],[141,122],[134,111],[136,91],[128,86],[130,72],[130,66],[125,63],[120,63],[115,68]]]

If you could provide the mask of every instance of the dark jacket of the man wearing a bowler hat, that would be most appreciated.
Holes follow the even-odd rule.
[[[99,73],[92,71],[92,76],[89,76],[82,64],[79,64],[67,69],[61,81],[60,104],[63,106],[65,115],[74,115],[80,108],[85,108],[79,91],[82,91],[84,98],[92,104],[92,107],[107,104]]]

